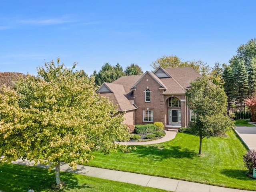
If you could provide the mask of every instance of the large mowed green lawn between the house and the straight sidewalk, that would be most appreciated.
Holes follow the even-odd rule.
[[[201,156],[198,155],[199,138],[184,133],[178,133],[168,142],[136,148],[130,153],[117,152],[109,156],[94,153],[95,158],[88,165],[256,190],[256,180],[246,176],[247,169],[242,160],[247,150],[233,131],[222,138],[204,138]]]

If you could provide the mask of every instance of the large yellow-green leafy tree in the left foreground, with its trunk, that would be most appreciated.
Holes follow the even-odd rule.
[[[115,106],[99,97],[94,79],[54,62],[38,68],[38,76],[19,78],[15,90],[2,87],[0,94],[1,162],[34,160],[56,168],[60,160],[72,168],[93,159],[91,152],[115,151],[115,140],[129,132]]]

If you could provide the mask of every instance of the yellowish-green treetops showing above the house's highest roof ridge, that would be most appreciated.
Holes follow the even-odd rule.
[[[193,61],[181,61],[181,58],[178,56],[162,56],[158,58],[156,61],[152,62],[150,65],[155,71],[158,67],[162,68],[174,68],[174,67],[192,67],[197,72],[205,72],[206,65],[201,60],[193,60]]]

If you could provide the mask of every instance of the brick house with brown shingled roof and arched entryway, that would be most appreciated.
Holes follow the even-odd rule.
[[[126,112],[126,124],[163,122],[166,129],[186,127],[195,114],[186,106],[185,92],[200,76],[191,67],[159,67],[154,73],[146,71],[103,83],[97,92],[118,105],[118,112]]]

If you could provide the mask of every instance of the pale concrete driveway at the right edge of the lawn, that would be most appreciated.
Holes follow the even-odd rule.
[[[256,150],[256,126],[236,126],[236,130],[250,148]]]

